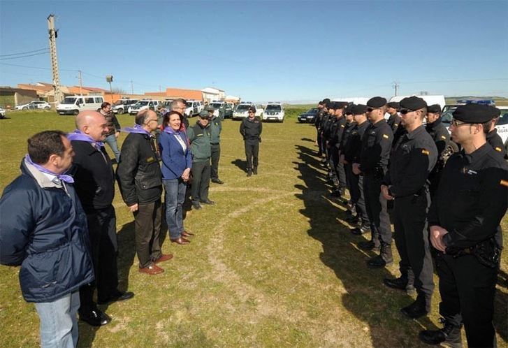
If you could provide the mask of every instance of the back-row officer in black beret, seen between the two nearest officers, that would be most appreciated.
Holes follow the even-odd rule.
[[[433,170],[428,175],[428,180],[430,182],[430,196],[433,197],[444,168],[444,158],[442,157],[442,154],[450,143],[450,134],[447,131],[447,127],[445,127],[441,122],[441,106],[439,104],[427,107],[426,120],[427,124],[425,129],[433,138],[437,147],[437,162]]]

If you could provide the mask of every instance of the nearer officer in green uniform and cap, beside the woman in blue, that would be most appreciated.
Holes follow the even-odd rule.
[[[192,208],[199,210],[201,204],[215,204],[208,198],[210,189],[210,157],[212,145],[210,144],[210,119],[208,114],[200,114],[194,126],[189,127],[187,136],[191,143],[192,153]]]

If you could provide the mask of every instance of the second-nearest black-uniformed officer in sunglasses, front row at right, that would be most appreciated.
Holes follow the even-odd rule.
[[[430,311],[434,291],[426,215],[430,205],[427,177],[435,166],[437,147],[423,127],[426,112],[427,103],[417,96],[400,101],[401,124],[407,133],[395,145],[381,187],[384,198],[394,201],[394,237],[400,255],[400,277],[383,282],[403,291],[414,282],[418,296],[400,310],[411,319]]]

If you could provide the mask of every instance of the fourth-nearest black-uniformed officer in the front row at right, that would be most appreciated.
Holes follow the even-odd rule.
[[[354,117],[354,126],[351,129],[351,135],[347,138],[342,151],[342,161],[348,177],[349,194],[351,201],[354,204],[356,217],[358,221],[361,220],[361,225],[351,229],[351,233],[361,235],[370,231],[370,220],[365,208],[365,196],[363,196],[363,175],[358,175],[353,172],[353,163],[355,159],[361,157],[362,138],[365,130],[370,126],[367,120],[367,106],[358,104],[351,108],[351,113]],[[355,222],[352,219],[351,222]]]

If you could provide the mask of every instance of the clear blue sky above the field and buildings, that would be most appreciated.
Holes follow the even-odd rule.
[[[135,93],[218,87],[254,101],[508,96],[508,1],[4,1],[0,85]],[[24,55],[17,53],[29,52]],[[10,65],[8,65],[10,64]],[[13,66],[15,65],[15,66]]]

